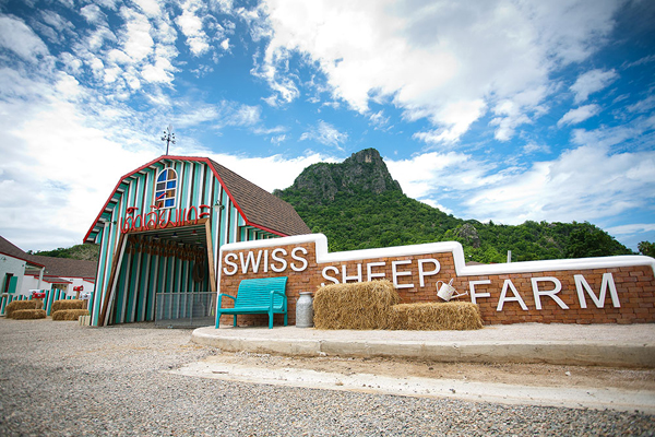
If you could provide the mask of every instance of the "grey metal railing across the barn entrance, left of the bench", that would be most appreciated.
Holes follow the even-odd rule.
[[[195,328],[213,326],[216,293],[157,293],[155,326]]]

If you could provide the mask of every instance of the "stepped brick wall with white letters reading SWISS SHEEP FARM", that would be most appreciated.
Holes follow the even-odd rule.
[[[324,255],[326,249],[321,247],[323,240],[298,241],[297,237],[293,244],[282,244],[279,246],[270,246],[273,243],[267,243],[269,246],[260,246],[260,241],[250,241],[248,244],[228,245],[222,249],[222,273],[219,281],[219,293],[231,295],[237,294],[238,285],[241,280],[253,277],[270,277],[270,276],[288,276],[287,296],[288,296],[288,321],[289,324],[295,323],[296,319],[296,300],[301,292],[315,292],[317,287],[322,283],[331,284],[332,280],[325,276],[334,277],[340,282],[344,282],[344,275],[347,282],[367,281],[369,272],[373,279],[380,279],[383,274],[384,279],[390,281],[395,280],[398,285],[398,293],[402,303],[420,303],[420,302],[442,302],[437,296],[438,281],[449,282],[453,279],[453,286],[458,293],[468,291],[469,294],[458,299],[471,302],[471,285],[474,283],[475,303],[479,305],[480,312],[485,324],[498,323],[517,323],[517,322],[540,322],[540,323],[645,323],[655,322],[655,277],[653,275],[653,267],[644,265],[644,257],[621,257],[621,262],[617,262],[617,267],[595,268],[593,264],[586,263],[590,268],[576,268],[568,270],[567,265],[580,267],[580,263],[572,263],[570,260],[549,261],[543,263],[529,263],[532,265],[547,265],[548,269],[531,270],[529,272],[510,272],[502,273],[502,269],[507,267],[508,271],[520,271],[521,267],[527,263],[512,264],[496,264],[493,265],[493,274],[485,271],[488,267],[471,267],[460,268],[460,275],[456,274],[455,264],[462,267],[464,264],[463,252],[440,251],[440,252],[422,252],[414,255],[402,255],[403,248],[397,248],[398,256],[390,256],[390,249],[382,249],[379,252],[382,257],[374,256],[374,250],[369,250],[365,253],[370,255],[368,258],[359,258],[353,256],[356,252],[342,252],[343,259],[338,260],[341,253],[330,253],[327,262],[317,262],[317,251],[319,252],[319,261],[322,258],[327,258]],[[287,238],[282,238],[277,241],[284,243]],[[449,245],[456,245],[449,243]],[[243,248],[246,247],[246,248]],[[318,249],[317,249],[318,247]],[[416,248],[421,246],[413,246]],[[426,249],[433,248],[434,245],[425,245]],[[301,248],[301,249],[297,249]],[[455,246],[456,248],[456,246]],[[277,261],[272,258],[272,253],[277,250]],[[391,248],[393,249],[393,248]],[[302,271],[295,271],[291,263],[297,269],[303,267],[303,262],[291,257],[291,251],[296,250],[296,256],[307,261],[307,267]],[[305,250],[306,253],[302,251]],[[393,251],[393,250],[391,250]],[[420,251],[420,250],[418,250]],[[250,252],[250,261],[257,260],[259,257],[258,272],[253,270],[252,262],[248,265],[243,273],[243,262],[248,261]],[[231,255],[230,255],[231,253]],[[286,253],[286,255],[284,255]],[[458,263],[455,261],[460,256]],[[231,264],[226,263],[230,261]],[[281,270],[284,267],[283,259],[287,265],[282,272],[273,271],[273,268]],[[350,260],[347,260],[350,259]],[[630,260],[634,259],[634,265],[630,265]],[[419,265],[419,260],[422,261],[422,267]],[[430,260],[437,260],[439,271],[436,270],[437,264]],[[611,264],[614,258],[604,258],[604,262],[598,264]],[[617,258],[617,260],[619,260]],[[646,259],[647,261],[648,259]],[[607,262],[606,262],[607,261]],[[655,261],[655,260],[654,260]],[[383,263],[383,264],[380,264]],[[641,263],[641,264],[640,264]],[[395,273],[394,273],[395,264]],[[586,265],[585,264],[585,265]],[[235,269],[236,267],[236,269]],[[264,272],[264,268],[267,270]],[[525,270],[525,269],[523,269]],[[228,273],[234,274],[226,274]],[[361,274],[359,274],[359,271]],[[422,271],[424,285],[420,285]],[[485,274],[477,274],[477,273]],[[607,273],[610,273],[608,277]],[[597,308],[592,296],[585,291],[584,285],[576,285],[575,276],[582,275],[584,282],[593,291],[595,296],[599,295],[603,283],[605,282],[606,296],[603,302],[603,307]],[[604,280],[605,275],[605,280]],[[553,280],[555,279],[555,280]],[[561,284],[561,290],[549,295]],[[608,282],[609,281],[609,282]],[[488,283],[480,283],[488,282]],[[615,307],[611,296],[611,282],[616,287],[616,297],[620,307]],[[579,276],[580,283],[580,276]],[[406,286],[406,287],[404,287]],[[504,288],[504,297],[503,295]],[[582,290],[586,308],[583,308],[579,288]],[[536,290],[536,292],[535,292]],[[488,294],[488,296],[486,296]],[[559,298],[560,303],[556,302]],[[519,300],[522,300],[524,309]],[[226,299],[223,306],[231,305],[231,300]],[[538,302],[537,302],[538,300]],[[540,304],[540,309],[538,309]],[[562,308],[567,306],[568,309]],[[500,308],[501,307],[501,308]],[[500,308],[500,310],[499,310]],[[283,316],[276,315],[275,324],[283,323]],[[222,323],[231,323],[233,316],[223,316]],[[267,324],[266,315],[240,315],[238,316],[238,324]]]

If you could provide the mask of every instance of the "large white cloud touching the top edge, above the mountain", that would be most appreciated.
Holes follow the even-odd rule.
[[[352,2],[267,0],[272,38],[253,73],[283,102],[297,98],[288,64],[299,51],[318,62],[333,97],[369,114],[391,98],[417,134],[453,143],[495,108],[497,139],[543,114],[549,73],[593,54],[614,25],[619,1]],[[278,102],[278,101],[276,101]]]

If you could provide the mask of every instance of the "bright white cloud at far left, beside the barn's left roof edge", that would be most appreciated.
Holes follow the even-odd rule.
[[[22,96],[0,102],[0,228],[25,249],[80,244],[120,175],[156,155],[152,141],[126,122],[132,114],[116,126],[83,104],[90,95],[70,75],[55,86],[26,78],[20,85]]]

